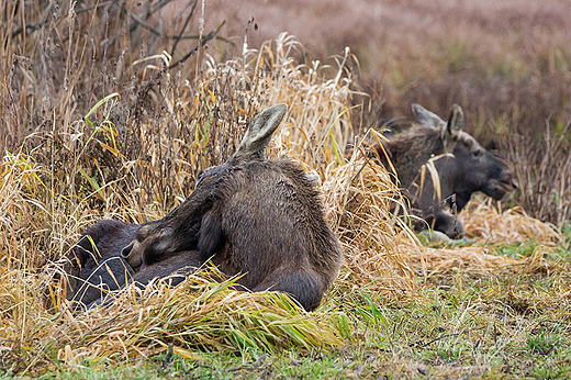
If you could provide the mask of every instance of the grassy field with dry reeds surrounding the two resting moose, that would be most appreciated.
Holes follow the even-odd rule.
[[[234,3],[0,3],[0,379],[571,378],[571,5]],[[79,234],[166,215],[279,102],[268,155],[320,176],[346,254],[317,311],[197,273],[71,314]],[[412,102],[514,164],[463,242],[414,234],[368,159]]]

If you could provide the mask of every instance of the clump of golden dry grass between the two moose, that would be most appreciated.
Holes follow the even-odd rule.
[[[347,270],[338,283],[398,298],[411,291],[411,259],[421,252],[403,219],[392,214],[398,204],[404,208],[404,200],[387,169],[358,146],[346,165],[329,167],[322,189],[346,254]]]

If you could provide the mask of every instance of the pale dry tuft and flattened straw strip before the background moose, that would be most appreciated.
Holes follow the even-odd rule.
[[[500,208],[500,204],[496,206]],[[557,227],[529,216],[519,206],[503,212],[496,206],[492,199],[475,197],[459,215],[471,245],[423,247],[422,257],[412,257],[412,266],[427,270],[428,277],[447,272],[491,275],[505,270],[553,273],[568,269],[568,265],[545,257],[564,242]],[[499,256],[495,249],[529,242],[535,244],[533,252],[520,258]]]

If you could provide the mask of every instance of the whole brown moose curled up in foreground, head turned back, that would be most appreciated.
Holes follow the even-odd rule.
[[[65,268],[68,299],[90,308],[126,283],[178,273],[176,284],[211,259],[228,277],[244,275],[237,283],[246,289],[286,292],[305,310],[317,308],[343,252],[310,177],[292,160],[265,158],[287,111],[278,104],[258,114],[234,156],[204,170],[164,219],[90,226]]]

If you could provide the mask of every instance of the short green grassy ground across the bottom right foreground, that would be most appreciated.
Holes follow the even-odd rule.
[[[567,243],[569,244],[569,243]],[[500,245],[499,253],[528,255],[527,245]],[[560,270],[510,268],[471,275],[438,275],[408,300],[394,301],[366,287],[337,287],[321,310],[343,309],[351,337],[335,349],[300,353],[256,349],[242,355],[167,349],[149,360],[108,368],[66,366],[45,378],[193,379],[567,379],[571,376],[569,253],[557,249]],[[64,368],[63,368],[64,369]]]

